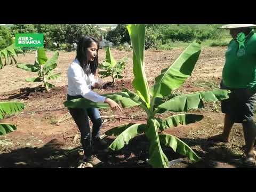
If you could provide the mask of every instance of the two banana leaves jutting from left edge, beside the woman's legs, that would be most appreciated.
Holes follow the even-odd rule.
[[[0,102],[0,119],[3,119],[5,115],[12,115],[23,109],[25,109],[25,104],[21,102]],[[13,124],[0,123],[0,135],[10,133],[16,129],[17,127]]]

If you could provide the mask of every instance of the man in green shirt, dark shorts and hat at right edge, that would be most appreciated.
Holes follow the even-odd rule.
[[[221,89],[230,90],[229,99],[221,101],[225,113],[223,133],[214,136],[215,141],[229,142],[234,123],[242,123],[245,138],[245,163],[256,165],[254,141],[256,125],[253,121],[256,101],[256,34],[253,24],[229,24],[220,29],[229,29],[233,37],[226,52],[222,71]]]

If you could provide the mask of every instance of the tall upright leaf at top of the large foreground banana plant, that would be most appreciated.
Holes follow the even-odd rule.
[[[132,85],[139,94],[140,98],[150,108],[150,94],[148,82],[145,74],[144,55],[145,55],[145,25],[134,24],[127,26],[132,47],[133,47],[133,74]]]

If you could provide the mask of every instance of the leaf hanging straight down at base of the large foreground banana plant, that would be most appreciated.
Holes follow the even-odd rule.
[[[158,137],[159,126],[160,124],[157,122],[156,119],[148,120],[148,129],[146,130],[146,135],[150,140],[149,164],[154,168],[167,168],[169,161],[160,145]]]

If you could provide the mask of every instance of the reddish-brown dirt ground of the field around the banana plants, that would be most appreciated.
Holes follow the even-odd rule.
[[[170,51],[146,51],[145,71],[149,85],[153,85],[154,78],[162,69],[179,56],[183,48]],[[203,48],[191,77],[179,89],[181,93],[191,93],[204,90],[218,89],[221,81],[221,72],[225,62],[226,47]],[[122,91],[124,87],[132,88],[132,52],[112,50],[116,60],[128,56],[124,71],[124,78],[117,81],[117,87],[95,90],[98,93]],[[20,101],[26,104],[22,113],[5,118],[2,122],[12,122],[18,129],[0,137],[0,167],[77,167],[80,156],[78,148],[79,132],[68,110],[63,106],[67,94],[67,69],[75,57],[75,52],[60,52],[58,67],[54,70],[61,72],[61,76],[51,83],[56,85],[49,93],[35,91],[23,94],[11,101]],[[47,56],[53,52],[47,52]],[[105,51],[99,51],[99,61],[105,58]],[[34,53],[27,53],[18,57],[18,62],[33,63]],[[40,83],[28,83],[27,77],[35,77],[15,66],[6,66],[1,69],[0,75],[0,102],[10,100],[14,95],[38,86]],[[103,79],[105,83],[110,78]],[[191,112],[191,111],[190,111]],[[193,111],[204,115],[201,122],[187,126],[178,126],[165,132],[173,134],[185,141],[195,152],[202,157],[202,161],[192,163],[187,158],[176,154],[172,149],[163,148],[165,154],[172,159],[182,159],[182,163],[172,167],[246,167],[244,158],[243,129],[235,124],[231,132],[229,143],[213,143],[209,140],[222,131],[224,115],[220,112],[220,102],[206,103],[205,109]],[[103,126],[101,134],[125,123],[146,122],[146,114],[138,107],[125,109],[122,113],[111,110],[101,110]],[[162,117],[167,114],[162,115]],[[114,137],[107,137],[108,143]],[[103,161],[102,167],[150,167],[146,159],[148,156],[148,141],[144,135],[132,139],[119,151],[109,151],[107,154],[98,154]]]

